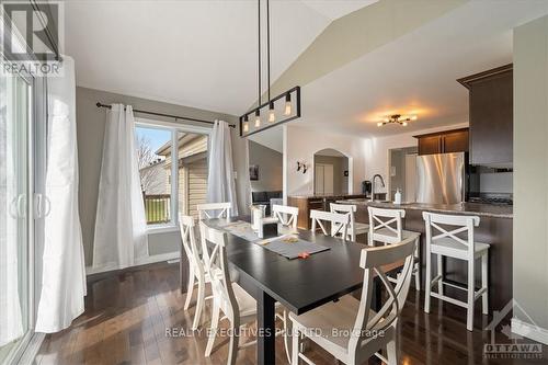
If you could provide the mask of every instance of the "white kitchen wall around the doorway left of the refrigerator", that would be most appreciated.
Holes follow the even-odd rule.
[[[391,127],[391,126],[388,126]],[[402,133],[381,138],[367,138],[365,140],[365,176],[364,180],[370,180],[373,175],[380,174],[385,183],[389,181],[389,151],[392,148],[415,147],[418,145],[416,138],[413,136],[436,133],[442,130],[457,129],[468,127],[468,123],[460,123],[449,126],[429,128],[423,130],[415,130],[412,133]],[[387,192],[387,187],[380,185],[375,187],[376,193]]]

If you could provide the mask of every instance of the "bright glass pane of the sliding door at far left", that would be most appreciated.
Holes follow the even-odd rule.
[[[0,346],[23,335],[18,272],[19,199],[13,115],[14,78],[0,78]],[[8,92],[10,89],[11,92]]]

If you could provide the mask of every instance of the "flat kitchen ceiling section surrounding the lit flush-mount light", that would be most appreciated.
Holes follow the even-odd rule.
[[[305,85],[292,124],[370,137],[466,123],[468,92],[455,80],[512,62],[512,28],[546,13],[548,1],[469,1]],[[377,127],[397,113],[419,119]]]

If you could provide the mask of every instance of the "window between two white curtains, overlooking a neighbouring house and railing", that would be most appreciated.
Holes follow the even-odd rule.
[[[136,148],[147,224],[174,226],[179,215],[197,217],[207,192],[207,129],[139,123]]]

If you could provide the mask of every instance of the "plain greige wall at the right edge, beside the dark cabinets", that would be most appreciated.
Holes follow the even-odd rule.
[[[547,119],[548,16],[544,16],[514,30],[513,293],[520,307],[514,308],[512,330],[538,341],[544,340],[546,344],[548,344]],[[537,330],[536,326],[545,330]],[[525,331],[518,331],[520,328],[525,328]]]

